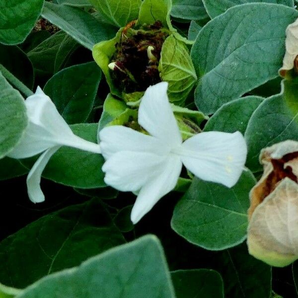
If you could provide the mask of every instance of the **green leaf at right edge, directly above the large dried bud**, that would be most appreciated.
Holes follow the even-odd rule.
[[[283,84],[285,91],[264,100],[248,122],[244,136],[248,148],[246,165],[253,172],[263,169],[259,163],[261,149],[286,140],[298,140],[298,101],[295,99],[298,84],[291,86],[289,81]]]

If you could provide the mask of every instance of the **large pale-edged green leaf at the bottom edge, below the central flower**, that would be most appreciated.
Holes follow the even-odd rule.
[[[145,236],[46,277],[18,298],[174,298],[160,242]]]

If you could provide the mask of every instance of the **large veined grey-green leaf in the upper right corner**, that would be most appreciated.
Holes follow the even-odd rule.
[[[278,76],[293,8],[269,3],[237,5],[211,20],[191,50],[199,79],[198,109],[212,114],[224,103]]]

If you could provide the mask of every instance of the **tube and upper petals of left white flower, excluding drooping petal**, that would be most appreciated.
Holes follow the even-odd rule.
[[[25,105],[29,124],[20,143],[9,153],[9,157],[26,158],[58,145],[100,153],[99,145],[74,135],[50,97],[39,87],[34,95],[25,100]]]

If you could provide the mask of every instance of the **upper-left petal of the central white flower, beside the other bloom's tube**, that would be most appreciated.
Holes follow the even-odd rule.
[[[156,154],[166,152],[166,146],[160,140],[119,125],[102,129],[99,132],[99,140],[105,159],[119,151],[142,151]]]

